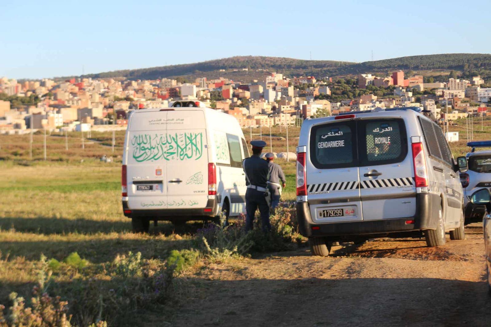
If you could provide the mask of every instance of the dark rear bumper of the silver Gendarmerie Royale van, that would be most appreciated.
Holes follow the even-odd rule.
[[[440,204],[441,198],[436,194],[417,194],[416,214],[413,217],[324,224],[315,224],[312,221],[308,202],[297,202],[296,207],[300,234],[305,237],[342,238],[436,229]],[[406,224],[408,220],[414,220],[414,224]]]

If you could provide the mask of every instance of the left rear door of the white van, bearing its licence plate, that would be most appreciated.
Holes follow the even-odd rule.
[[[167,208],[167,112],[142,111],[128,126],[128,204],[132,209]]]

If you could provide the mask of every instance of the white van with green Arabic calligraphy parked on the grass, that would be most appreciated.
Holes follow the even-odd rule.
[[[148,231],[150,221],[238,216],[245,212],[248,156],[228,114],[198,105],[135,110],[124,142],[124,215],[134,231]]]

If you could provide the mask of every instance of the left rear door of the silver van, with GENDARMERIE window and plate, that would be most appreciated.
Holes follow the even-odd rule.
[[[311,128],[306,179],[314,223],[363,220],[356,133],[349,120]]]

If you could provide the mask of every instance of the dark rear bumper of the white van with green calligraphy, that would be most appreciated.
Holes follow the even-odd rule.
[[[208,199],[205,208],[191,209],[131,209],[128,201],[122,201],[123,213],[128,218],[148,218],[149,220],[199,220],[218,216],[218,202]],[[209,211],[211,209],[211,211]],[[205,211],[207,210],[207,211]]]

